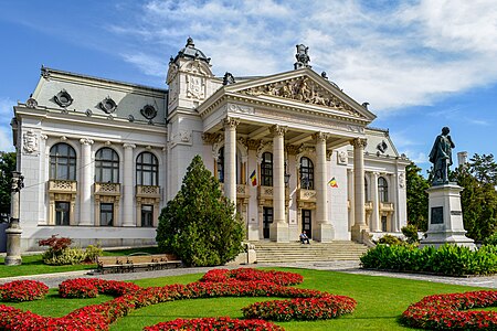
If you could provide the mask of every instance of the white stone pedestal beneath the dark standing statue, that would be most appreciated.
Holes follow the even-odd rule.
[[[454,244],[475,248],[473,239],[466,237],[461,209],[461,191],[455,183],[431,186],[429,193],[429,229],[420,247]]]

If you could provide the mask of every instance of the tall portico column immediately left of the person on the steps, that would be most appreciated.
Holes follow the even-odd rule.
[[[278,243],[288,243],[288,222],[285,217],[285,132],[287,128],[275,125],[273,134],[273,215],[269,237]]]

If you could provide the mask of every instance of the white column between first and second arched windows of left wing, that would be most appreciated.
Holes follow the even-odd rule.
[[[92,145],[88,138],[80,140],[82,147],[81,158],[81,186],[80,186],[80,223],[78,225],[92,225]],[[97,207],[97,206],[95,206]]]

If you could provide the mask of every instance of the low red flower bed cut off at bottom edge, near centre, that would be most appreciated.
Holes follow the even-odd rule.
[[[229,330],[229,331],[281,331],[282,327],[262,320],[236,320],[224,318],[203,318],[203,319],[177,319],[169,322],[162,322],[152,327],[146,327],[145,331],[195,331],[195,330]]]

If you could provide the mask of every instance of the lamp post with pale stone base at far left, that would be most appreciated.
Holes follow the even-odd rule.
[[[22,264],[21,258],[21,225],[19,224],[21,206],[21,189],[24,188],[24,177],[20,172],[12,172],[12,188],[10,202],[10,224],[6,229],[7,256],[6,266],[18,266]]]

